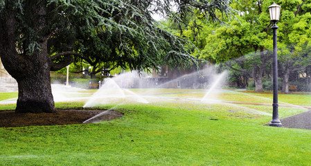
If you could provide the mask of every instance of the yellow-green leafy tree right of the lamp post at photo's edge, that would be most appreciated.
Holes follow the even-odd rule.
[[[297,71],[305,71],[311,62],[311,1],[292,1],[283,4],[279,27],[278,63],[283,80],[284,93],[289,93],[290,75]]]

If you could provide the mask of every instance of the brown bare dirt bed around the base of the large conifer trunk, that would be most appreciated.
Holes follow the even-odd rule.
[[[119,111],[58,109],[56,113],[15,113],[15,111],[0,111],[0,127],[48,126],[64,124],[82,124],[96,115],[100,120],[121,118]],[[98,118],[97,118],[98,119]]]

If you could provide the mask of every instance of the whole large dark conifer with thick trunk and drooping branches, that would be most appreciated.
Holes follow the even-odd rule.
[[[54,112],[50,71],[73,62],[116,62],[132,69],[196,64],[190,44],[155,26],[162,11],[183,22],[197,8],[219,20],[230,1],[196,0],[0,0],[0,56],[17,80],[17,113]],[[172,10],[172,4],[177,11]]]

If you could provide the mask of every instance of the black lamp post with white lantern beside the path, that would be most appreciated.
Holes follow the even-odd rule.
[[[277,39],[276,39],[276,22],[280,18],[281,6],[273,3],[272,6],[269,6],[270,20],[273,22],[273,57],[272,57],[272,81],[273,81],[273,114],[272,120],[269,123],[269,126],[273,127],[282,127],[281,121],[278,119],[278,53],[277,53]]]

